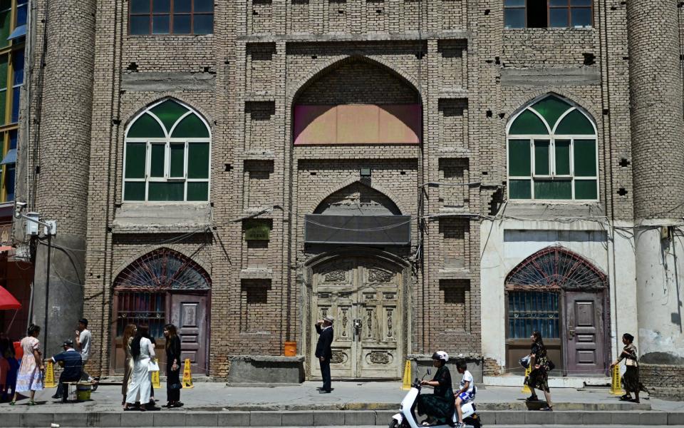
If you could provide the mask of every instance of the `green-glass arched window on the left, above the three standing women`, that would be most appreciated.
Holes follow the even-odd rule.
[[[209,200],[211,131],[189,106],[171,98],[130,122],[123,153],[123,200]]]

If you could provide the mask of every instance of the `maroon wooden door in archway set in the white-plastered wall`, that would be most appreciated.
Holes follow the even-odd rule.
[[[569,374],[603,374],[603,293],[566,293],[566,355]]]

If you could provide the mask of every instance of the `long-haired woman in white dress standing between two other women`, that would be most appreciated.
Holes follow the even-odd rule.
[[[150,359],[155,357],[155,347],[149,337],[147,325],[138,325],[138,332],[130,343],[130,354],[133,356],[133,373],[130,376],[130,384],[126,392],[124,410],[130,410],[135,402],[140,402],[140,411],[145,412],[145,407],[150,402],[152,373],[147,371],[147,365]]]

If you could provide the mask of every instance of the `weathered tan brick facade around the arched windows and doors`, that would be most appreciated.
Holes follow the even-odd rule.
[[[83,58],[71,60],[85,63],[74,67],[79,74],[71,78],[83,85],[79,94],[86,98],[70,103],[85,108],[74,113],[73,123],[80,128],[67,130],[74,137],[71,143],[80,145],[70,149],[73,156],[90,156],[63,171],[65,176],[46,179],[46,168],[73,159],[53,146],[41,155],[41,165],[51,166],[33,178],[39,190],[43,186],[41,193],[57,183],[73,187],[75,198],[87,206],[87,213],[64,216],[63,224],[87,243],[82,279],[84,312],[92,319],[97,349],[93,369],[110,372],[116,275],[135,258],[162,247],[196,260],[212,277],[209,374],[226,377],[228,355],[281,355],[285,341],[297,341],[307,350],[310,326],[302,320],[309,317],[304,312],[311,291],[306,266],[337,248],[306,245],[304,215],[333,193],[351,198],[344,192],[361,181],[361,168],[372,171],[363,185],[412,216],[410,247],[383,249],[411,266],[404,308],[409,315],[402,327],[405,349],[410,354],[440,348],[479,355],[487,340],[480,321],[487,298],[480,292],[480,248],[486,239],[480,236],[480,218],[497,213],[506,198],[505,136],[514,113],[534,98],[556,93],[592,116],[599,165],[594,205],[611,221],[628,222],[651,212],[643,205],[653,199],[641,203],[638,198],[648,198],[653,180],[660,178],[634,180],[642,186],[638,190],[632,173],[634,165],[641,168],[640,176],[646,174],[654,151],[661,155],[659,165],[678,165],[667,169],[673,171],[671,189],[682,193],[677,186],[684,186],[684,155],[671,156],[670,150],[653,146],[660,144],[654,136],[663,129],[674,129],[667,131],[668,141],[681,143],[681,103],[668,104],[669,125],[663,121],[670,116],[663,118],[658,111],[652,116],[630,111],[630,103],[648,103],[646,95],[653,91],[640,86],[646,77],[633,75],[631,58],[645,64],[649,46],[664,40],[677,49],[677,16],[667,14],[665,39],[639,43],[648,39],[644,31],[662,26],[634,18],[651,7],[646,5],[651,2],[638,2],[606,10],[605,3],[594,1],[594,26],[588,29],[504,29],[500,0],[221,1],[214,5],[213,34],[202,36],[130,36],[128,3],[96,2],[89,36],[94,53],[92,46],[84,48],[78,52]],[[46,3],[38,1],[38,16]],[[675,2],[665,3],[672,9]],[[84,11],[83,16],[93,14]],[[629,31],[628,15],[640,21]],[[52,28],[61,26],[66,23],[55,21]],[[33,46],[41,46],[42,34],[38,24]],[[55,36],[48,31],[47,37],[49,44]],[[71,54],[76,52],[59,58]],[[42,59],[40,51],[34,55],[35,66]],[[88,61],[94,68],[88,68]],[[658,85],[671,86],[681,98],[680,66],[658,63],[656,68],[655,73],[666,76]],[[512,77],[520,69],[530,71],[524,83]],[[589,77],[572,77],[576,73]],[[92,88],[84,83],[90,76]],[[145,78],[147,83],[141,83]],[[183,86],[181,81],[194,83]],[[46,83],[42,102],[58,107],[58,113],[66,90]],[[138,112],[165,97],[195,109],[211,128],[211,190],[204,207],[211,220],[199,227],[141,223],[135,233],[117,230],[113,224],[126,205],[125,130]],[[31,106],[37,103],[31,98]],[[293,144],[295,104],[405,103],[422,108],[420,145]],[[41,132],[61,126],[45,117]],[[633,144],[634,138],[641,144]],[[633,156],[636,150],[638,157]],[[63,208],[64,201],[37,200],[36,206],[48,213],[53,205]],[[168,213],[162,204],[147,208],[160,218]],[[246,222],[254,219],[269,225],[269,240],[244,239]],[[484,357],[485,374],[498,374],[502,367]]]

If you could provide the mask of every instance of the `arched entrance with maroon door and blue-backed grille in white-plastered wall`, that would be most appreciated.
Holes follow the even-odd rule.
[[[523,260],[506,277],[507,367],[529,353],[539,330],[562,374],[604,375],[608,364],[608,280],[580,255],[549,247]]]

